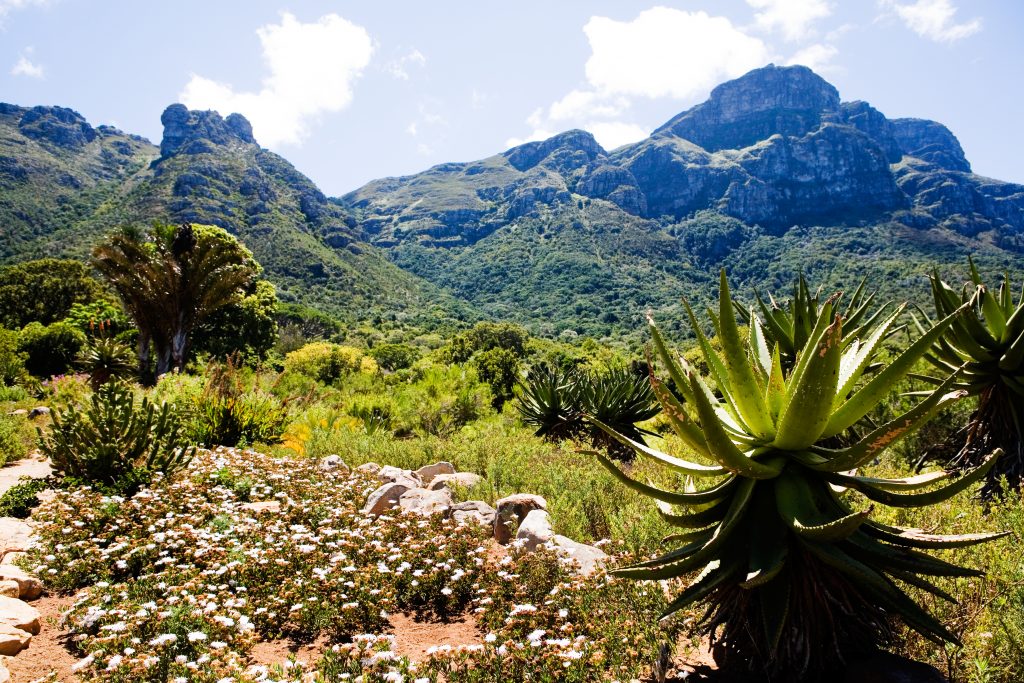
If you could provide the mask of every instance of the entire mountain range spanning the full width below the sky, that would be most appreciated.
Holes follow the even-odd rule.
[[[1024,186],[972,173],[945,126],[845,102],[804,67],[723,83],[617,150],[571,130],[341,198],[242,116],[172,104],[162,122],[157,146],[0,104],[0,261],[84,256],[126,222],[211,222],[284,300],[350,322],[485,315],[639,338],[647,309],[681,327],[680,297],[710,301],[720,267],[740,295],[802,270],[923,300],[933,267],[955,279],[968,254],[1006,268],[1024,252]]]

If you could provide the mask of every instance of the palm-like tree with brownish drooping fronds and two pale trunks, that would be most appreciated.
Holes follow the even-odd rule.
[[[234,303],[259,273],[248,249],[212,225],[122,229],[93,250],[93,265],[138,328],[139,373],[183,370],[189,337],[215,310]]]

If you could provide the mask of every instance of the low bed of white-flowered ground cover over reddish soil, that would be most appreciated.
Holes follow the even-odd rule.
[[[248,503],[231,481],[251,482]],[[580,670],[568,680],[603,680],[609,669],[632,677],[667,637],[650,626],[660,590],[581,579],[550,552],[513,551],[484,573],[489,529],[359,514],[377,485],[314,461],[201,452],[132,498],[58,493],[36,515],[41,544],[26,564],[51,590],[84,589],[66,622],[85,680],[265,680],[247,653],[281,636],[337,644],[321,669],[323,680],[343,680],[335,674],[356,666],[340,663],[345,653],[383,642],[398,610],[470,613],[481,625],[478,647],[421,663],[428,680],[495,680],[495,671],[524,680],[566,664]],[[381,661],[413,670],[396,656]],[[449,678],[456,671],[473,673]]]

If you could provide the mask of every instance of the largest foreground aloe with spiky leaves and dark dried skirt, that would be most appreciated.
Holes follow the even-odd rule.
[[[980,572],[922,551],[1001,535],[943,537],[888,526],[870,519],[871,507],[861,509],[854,497],[839,492],[855,490],[876,504],[919,507],[947,499],[984,476],[994,456],[938,488],[934,484],[947,477],[944,471],[905,479],[854,472],[963,396],[963,390],[953,388],[958,376],[951,375],[910,411],[849,445],[825,444],[876,408],[961,311],[936,323],[862,381],[895,325],[894,315],[865,339],[844,343],[844,321],[834,317],[834,299],[826,300],[804,352],[786,372],[780,344],[766,344],[757,315],[750,318],[749,336],[740,336],[724,271],[720,288],[719,310],[712,317],[721,354],[699,333],[690,312],[711,381],[677,360],[649,321],[659,365],[683,400],[653,370],[652,388],[679,439],[710,464],[662,453],[594,420],[637,455],[692,479],[711,479],[701,488],[666,490],[635,480],[595,453],[624,484],[654,499],[666,521],[683,529],[667,539],[676,544],[671,551],[615,573],[669,580],[699,571],[666,615],[705,601],[703,626],[717,639],[720,664],[765,673],[772,680],[805,680],[844,657],[885,644],[892,617],[935,642],[956,642],[903,587],[951,599],[928,578]]]

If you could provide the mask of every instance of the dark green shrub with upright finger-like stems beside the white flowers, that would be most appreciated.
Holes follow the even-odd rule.
[[[156,472],[174,474],[195,454],[181,445],[169,403],[159,412],[147,398],[136,405],[122,384],[100,387],[84,411],[72,405],[52,417],[49,434],[39,432],[40,450],[56,470],[103,489],[133,494]]]

